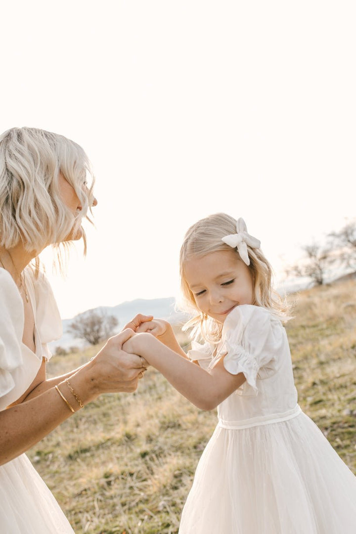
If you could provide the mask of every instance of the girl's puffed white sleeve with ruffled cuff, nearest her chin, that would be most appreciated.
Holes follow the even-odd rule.
[[[257,378],[263,380],[277,370],[282,332],[280,320],[258,306],[238,306],[225,319],[220,350],[224,367],[231,374],[243,373],[255,395]]]

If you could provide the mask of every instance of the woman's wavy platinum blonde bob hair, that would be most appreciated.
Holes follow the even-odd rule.
[[[92,206],[93,179],[84,150],[72,140],[37,128],[12,128],[0,136],[0,246],[11,249],[22,242],[28,251],[58,245],[81,229]],[[81,211],[62,201],[60,173],[74,187]],[[83,231],[84,247],[85,233]]]

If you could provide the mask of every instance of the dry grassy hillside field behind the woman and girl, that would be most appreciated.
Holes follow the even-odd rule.
[[[297,296],[287,325],[299,404],[356,473],[356,282]],[[184,339],[182,338],[184,342]],[[49,375],[90,358],[53,358]],[[135,394],[86,406],[29,451],[77,534],[169,534],[216,425],[154,369]]]

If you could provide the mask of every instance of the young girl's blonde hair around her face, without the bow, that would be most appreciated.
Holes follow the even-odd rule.
[[[231,250],[231,247],[224,241],[221,241],[221,239],[226,235],[235,233],[236,219],[224,213],[210,215],[189,228],[180,249],[179,270],[181,295],[183,297],[182,304],[189,311],[199,312],[199,315],[193,317],[185,324],[184,329],[192,329],[193,336],[201,336],[206,341],[216,342],[219,340],[221,324],[197,308],[194,294],[189,289],[185,279],[185,263],[193,258],[205,256],[218,250]],[[275,316],[287,321],[290,318],[288,315],[288,305],[273,290],[273,272],[270,263],[268,263],[260,248],[247,246],[247,249],[250,258],[248,268],[254,283],[253,304],[271,310]],[[236,258],[241,260],[237,250]]]

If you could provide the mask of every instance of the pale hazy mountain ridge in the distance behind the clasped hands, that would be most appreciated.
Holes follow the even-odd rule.
[[[153,315],[154,317],[160,317],[166,319],[171,324],[183,323],[188,318],[188,314],[175,310],[176,299],[174,297],[166,297],[164,299],[136,299],[133,301],[126,301],[116,306],[100,306],[93,308],[93,311],[104,312],[107,315],[113,315],[118,320],[117,332],[129,323],[137,313],[143,313],[144,315]],[[88,310],[89,311],[89,310]],[[76,317],[85,315],[87,311],[79,313]],[[83,347],[85,342],[82,339],[76,338],[73,334],[68,332],[70,323],[75,319],[62,320],[63,335],[57,341],[49,343],[49,349],[54,352],[56,347],[63,347],[68,349],[69,347]]]

